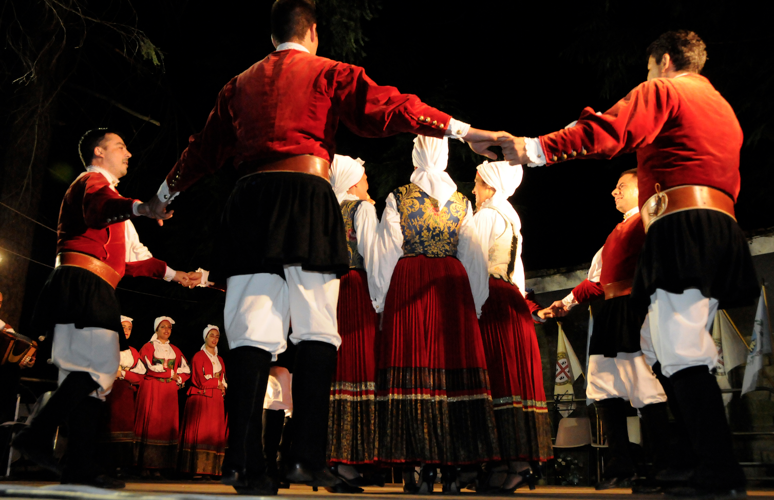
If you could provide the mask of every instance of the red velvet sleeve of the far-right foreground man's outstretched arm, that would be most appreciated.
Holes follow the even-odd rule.
[[[573,158],[609,159],[647,146],[673,115],[672,87],[661,78],[646,81],[602,115],[584,108],[574,127],[540,136],[546,163]]]

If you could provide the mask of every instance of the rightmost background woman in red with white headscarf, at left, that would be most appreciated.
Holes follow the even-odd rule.
[[[225,365],[217,355],[221,330],[211,324],[204,328],[204,345],[191,358],[191,386],[188,389],[183,432],[180,433],[180,471],[190,474],[221,475],[226,450]]]

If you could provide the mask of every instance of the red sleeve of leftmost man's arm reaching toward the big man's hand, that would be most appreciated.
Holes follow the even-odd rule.
[[[104,229],[132,217],[135,200],[111,190],[110,183],[101,173],[87,173],[84,181],[84,223],[88,228]]]

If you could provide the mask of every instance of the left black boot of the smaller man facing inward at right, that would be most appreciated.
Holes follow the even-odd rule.
[[[594,406],[597,407],[597,415],[602,420],[604,434],[608,438],[608,461],[604,467],[604,480],[601,479],[595,488],[630,488],[635,474],[626,426],[626,407],[629,403],[621,398],[611,398],[594,402]]]

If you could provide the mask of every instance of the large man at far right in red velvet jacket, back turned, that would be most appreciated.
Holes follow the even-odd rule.
[[[646,238],[632,284],[644,313],[642,351],[669,377],[700,457],[676,494],[744,495],[721,392],[710,373],[718,307],[759,294],[747,241],[736,224],[742,133],[731,105],[699,73],[696,33],[668,32],[648,48],[648,80],[604,113],[585,108],[574,127],[539,138],[504,138],[505,158],[531,166],[636,152]],[[667,474],[669,475],[669,474]]]

